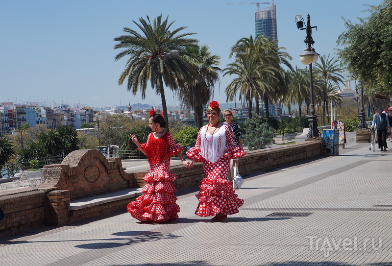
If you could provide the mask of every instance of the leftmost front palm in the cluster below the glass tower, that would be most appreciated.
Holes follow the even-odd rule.
[[[272,86],[273,81],[264,77],[269,74],[273,75],[273,67],[260,64],[257,57],[238,54],[236,61],[229,64],[223,71],[223,76],[237,75],[225,89],[226,100],[233,100],[239,93],[240,100],[244,97],[247,101],[249,118],[252,118],[252,101],[254,98],[261,98],[263,91]]]

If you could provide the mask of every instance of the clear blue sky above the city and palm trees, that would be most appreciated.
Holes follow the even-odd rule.
[[[115,62],[113,38],[123,27],[136,29],[134,21],[163,14],[175,21],[172,28],[188,26],[200,44],[221,56],[223,69],[232,59],[230,48],[241,38],[254,36],[256,4],[235,0],[0,0],[0,102],[55,101],[84,103],[92,107],[126,105],[128,102],[160,105],[159,96],[147,89],[142,100],[118,85],[126,59]],[[250,2],[250,1],[249,1]],[[292,65],[304,67],[299,54],[305,31],[294,17],[311,16],[314,48],[319,54],[335,53],[344,30],[342,17],[352,22],[365,18],[363,4],[382,0],[275,0],[278,45],[293,57]],[[260,9],[269,6],[261,4]],[[221,77],[214,99],[226,102],[224,90],[232,77]],[[352,85],[353,86],[353,85]],[[167,89],[169,105],[178,103]]]

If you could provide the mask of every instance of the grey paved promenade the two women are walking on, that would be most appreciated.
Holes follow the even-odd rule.
[[[101,219],[3,237],[1,264],[392,265],[392,151],[373,153],[367,144],[340,151],[246,176],[237,190],[245,204],[222,222],[196,216],[196,190],[187,191],[177,195],[180,218],[164,224],[138,222],[124,206]]]

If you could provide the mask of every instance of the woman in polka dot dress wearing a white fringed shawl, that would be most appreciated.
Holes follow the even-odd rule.
[[[212,101],[207,108],[208,124],[200,128],[196,145],[188,152],[188,158],[203,163],[205,178],[200,181],[200,192],[196,195],[199,204],[195,214],[201,217],[214,216],[213,221],[238,213],[244,204],[235,194],[233,184],[226,179],[230,159],[238,164],[238,158],[245,155],[241,146],[235,143],[230,125],[219,121],[221,108]]]

